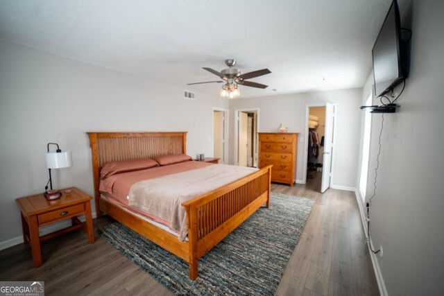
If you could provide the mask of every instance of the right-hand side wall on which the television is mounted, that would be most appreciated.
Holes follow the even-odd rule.
[[[377,261],[388,295],[443,295],[444,1],[408,1],[401,11],[413,32],[410,75],[400,109],[384,114],[370,234],[384,250]],[[382,121],[372,116],[367,199]]]

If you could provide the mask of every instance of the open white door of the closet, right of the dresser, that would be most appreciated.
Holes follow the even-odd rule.
[[[334,130],[334,106],[331,103],[325,105],[325,134],[324,134],[324,160],[322,168],[321,192],[324,193],[330,187],[332,176],[332,153],[333,153],[333,130]]]

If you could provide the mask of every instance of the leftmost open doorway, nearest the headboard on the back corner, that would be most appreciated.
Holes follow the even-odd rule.
[[[228,163],[228,110],[213,108],[213,157]]]

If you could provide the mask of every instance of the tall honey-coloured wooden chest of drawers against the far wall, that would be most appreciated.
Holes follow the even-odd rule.
[[[259,132],[259,168],[273,165],[271,182],[293,186],[296,181],[296,132]]]

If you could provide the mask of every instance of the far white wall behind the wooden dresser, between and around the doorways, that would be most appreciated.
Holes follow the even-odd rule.
[[[361,128],[361,89],[343,89],[329,92],[287,94],[263,98],[239,98],[230,101],[230,164],[234,163],[234,110],[259,108],[259,132],[278,132],[280,123],[289,132],[299,132],[298,139],[305,139],[305,109],[307,104],[338,103],[336,152],[332,184],[355,188],[359,156],[359,131]],[[298,142],[296,180],[302,181],[306,144]]]

